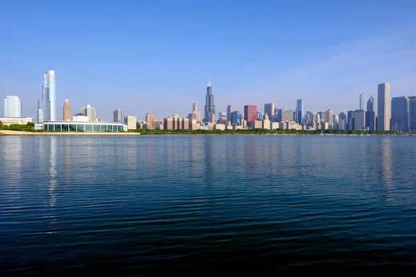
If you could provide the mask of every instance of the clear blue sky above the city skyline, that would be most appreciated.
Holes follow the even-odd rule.
[[[37,118],[55,70],[57,114],[162,119],[232,104],[358,109],[380,82],[416,94],[415,1],[0,1],[0,91]],[[0,108],[3,115],[3,105]]]

